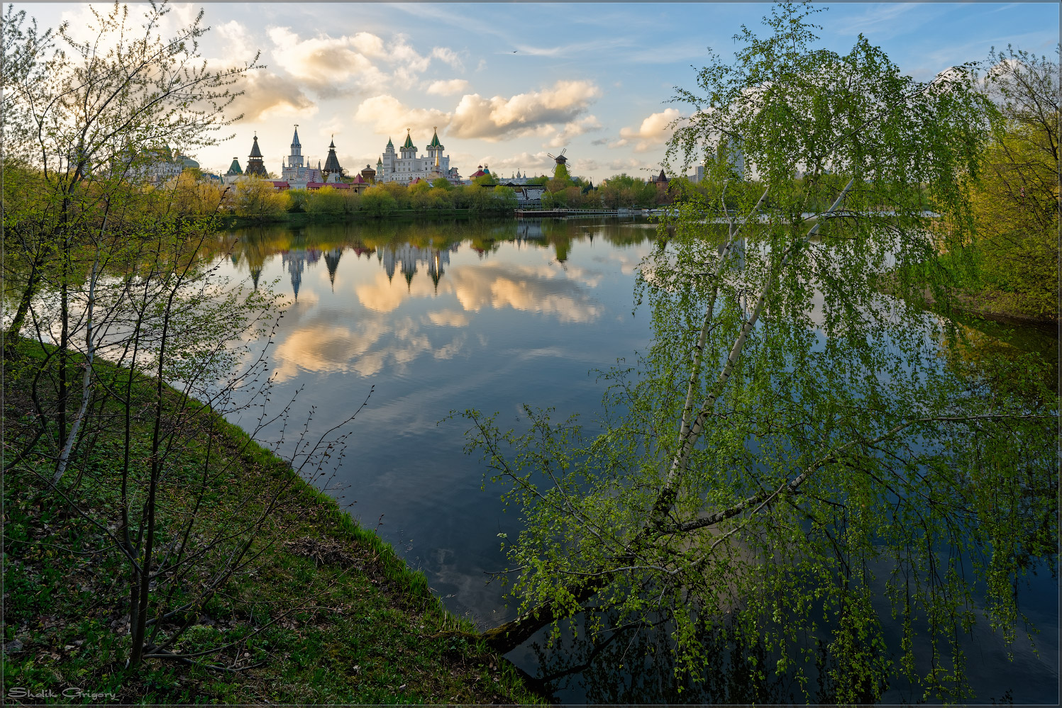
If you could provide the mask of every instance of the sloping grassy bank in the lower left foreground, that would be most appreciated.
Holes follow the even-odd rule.
[[[200,494],[196,533],[209,537],[227,531],[222,524],[233,517],[221,510],[234,500],[253,514],[273,490],[286,491],[253,538],[253,562],[224,583],[174,645],[184,655],[217,651],[191,663],[154,659],[126,670],[125,562],[107,541],[108,530],[76,511],[92,516],[119,504],[107,470],[122,441],[99,431],[82,467],[88,471],[64,477],[58,490],[47,482],[54,469],[48,455],[17,460],[36,436],[32,381],[44,351],[17,342],[4,367],[6,703],[543,702],[470,623],[445,610],[422,573],[217,417],[211,425],[222,444],[212,454],[226,463],[223,483],[171,484],[160,508],[187,513],[190,495]],[[143,454],[145,420],[135,421],[133,432],[134,452]],[[202,452],[192,448],[183,457],[188,469]],[[175,625],[160,626],[165,636]]]

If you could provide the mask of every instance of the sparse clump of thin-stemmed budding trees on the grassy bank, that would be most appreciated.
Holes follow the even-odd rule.
[[[88,41],[67,25],[40,33],[21,11],[4,17],[15,59],[2,84],[13,107],[5,156],[20,159],[29,185],[4,203],[5,255],[29,274],[7,334],[33,334],[5,349],[4,364],[35,367],[38,431],[3,471],[38,504],[82,519],[99,541],[88,555],[119,559],[100,602],[125,610],[125,669],[167,660],[233,671],[210,660],[239,641],[181,653],[181,638],[268,550],[259,532],[299,473],[313,479],[339,454],[342,433],[309,439],[304,429],[294,471],[272,465],[254,494],[226,494],[234,467],[260,452],[222,416],[254,407],[255,433],[276,420],[261,408],[264,353],[250,353],[275,331],[276,298],[219,277],[217,222],[149,208],[161,198],[145,185],[159,155],[172,157],[167,143],[217,141],[234,120],[232,87],[255,59],[209,66],[198,48],[202,12],[164,36],[168,13],[151,3],[138,27],[127,5],[93,10]]]

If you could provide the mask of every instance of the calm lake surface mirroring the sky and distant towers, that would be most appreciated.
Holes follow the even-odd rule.
[[[634,273],[654,230],[635,218],[264,226],[230,232],[236,245],[222,267],[259,284],[276,280],[291,300],[269,357],[273,400],[301,390],[294,422],[312,407],[320,434],[372,390],[327,487],[422,569],[447,607],[486,627],[515,615],[487,574],[504,568],[499,534],[515,537],[518,518],[506,513],[499,487],[484,487],[478,457],[464,454],[467,422],[448,416],[498,411],[499,425],[518,427],[527,403],[561,417],[581,413],[592,425],[603,393],[597,372],[617,359],[634,363],[649,342]],[[1057,349],[1050,330],[1004,330],[989,333]],[[253,425],[250,416],[234,421]],[[1020,639],[1010,661],[983,622],[964,640],[979,703],[1058,698],[1058,580],[1044,569],[1028,581],[1024,609],[1040,629],[1037,652]],[[784,676],[742,686],[722,639],[719,681],[682,694],[662,653],[637,658],[665,639],[616,639],[594,656],[570,635],[548,651],[532,640],[510,658],[532,675],[562,674],[552,688],[565,703],[804,701]],[[885,702],[921,697],[894,686]]]

